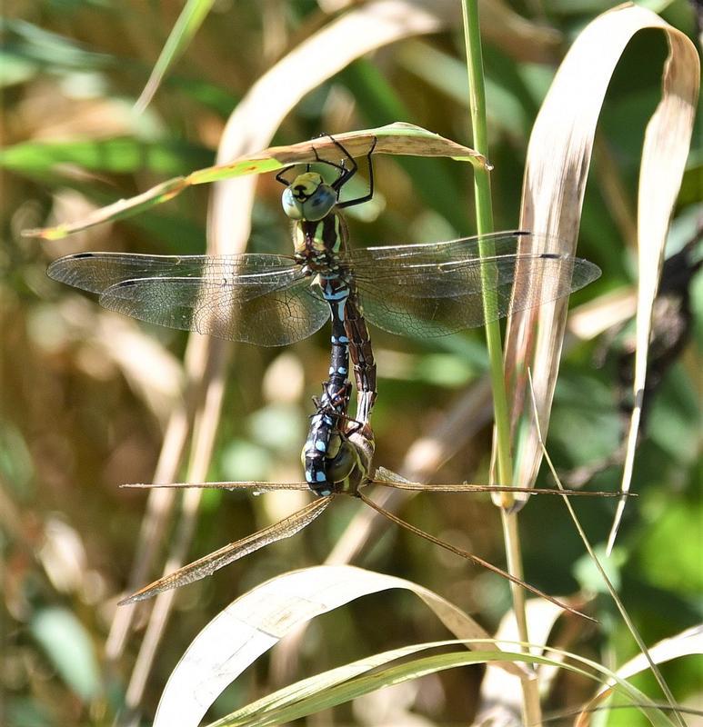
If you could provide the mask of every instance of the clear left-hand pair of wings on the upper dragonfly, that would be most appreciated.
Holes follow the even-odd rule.
[[[48,274],[149,323],[259,345],[316,332],[328,306],[286,255],[70,255]]]

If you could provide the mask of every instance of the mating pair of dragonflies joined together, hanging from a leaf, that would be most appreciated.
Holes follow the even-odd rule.
[[[367,483],[435,492],[520,491],[467,484],[443,489],[441,485],[407,483],[385,470],[377,471],[376,479],[370,478],[374,450],[370,415],[377,390],[366,319],[392,334],[419,338],[452,334],[570,294],[598,278],[598,266],[567,254],[522,252],[530,243],[537,246],[539,242],[538,235],[526,232],[350,249],[340,211],[372,197],[376,143],[366,157],[368,193],[342,201],[340,193],[358,166],[345,147],[330,138],[341,156],[338,163],[320,158],[314,144],[313,151],[319,164],[336,171],[334,182],[326,184],[309,164],[290,182],[286,179],[290,167],[276,175],[286,185],[284,211],[295,223],[292,255],[85,253],[68,255],[49,266],[52,278],[99,294],[105,308],[227,340],[265,346],[292,344],[331,319],[329,379],[316,401],[303,450],[306,483],[202,485],[259,491],[308,487],[319,499],[284,521],[152,583],[126,603],[198,580],[298,532],[338,493],[354,494],[377,508],[359,492]],[[484,245],[492,253],[482,257]],[[348,415],[349,358],[357,384],[354,419]],[[394,515],[384,514],[417,532]],[[437,542],[427,533],[418,534]],[[515,580],[476,556],[460,554]]]

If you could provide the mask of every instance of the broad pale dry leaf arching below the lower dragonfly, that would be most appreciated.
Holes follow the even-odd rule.
[[[415,593],[457,638],[490,639],[455,605],[402,578],[348,565],[286,573],[238,598],[196,636],[166,683],[155,727],[197,725],[228,684],[300,624],[361,596],[393,588]],[[516,664],[499,665],[516,676],[525,674]]]

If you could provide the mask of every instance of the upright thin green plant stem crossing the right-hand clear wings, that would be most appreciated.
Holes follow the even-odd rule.
[[[464,15],[464,39],[467,47],[467,74],[469,106],[471,109],[471,125],[473,130],[473,146],[480,154],[488,158],[488,135],[486,119],[486,89],[483,80],[483,57],[481,53],[481,35],[478,24],[477,0],[462,0]],[[494,231],[493,206],[490,195],[490,176],[487,169],[474,170],[474,197],[476,200],[476,218],[478,234]],[[482,257],[494,254],[493,245],[480,244]],[[490,270],[482,271],[484,282],[490,276]],[[487,289],[487,285],[484,286]],[[493,409],[496,423],[495,437],[497,449],[497,480],[500,484],[512,483],[513,463],[510,453],[510,417],[507,409],[507,393],[503,375],[503,347],[500,339],[500,324],[497,322],[496,303],[491,296],[484,296],[484,312],[486,314],[486,342],[490,362],[490,376],[493,389]],[[501,522],[503,539],[507,553],[507,571],[522,579],[522,555],[520,552],[517,515],[509,509],[514,503],[512,493],[500,496]],[[521,642],[527,644],[527,612],[525,592],[511,583],[513,611],[517,624],[517,632]],[[527,645],[523,647],[527,650]],[[536,679],[523,680],[523,719],[526,724],[541,723]]]

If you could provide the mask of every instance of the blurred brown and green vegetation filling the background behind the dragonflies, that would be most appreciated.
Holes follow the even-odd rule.
[[[514,10],[502,2],[482,5],[496,229],[520,224],[527,144],[561,59],[584,26],[612,4],[575,4],[588,5],[588,13],[563,2],[512,5]],[[687,3],[660,5],[668,24],[696,37]],[[266,579],[324,563],[330,553],[335,563],[432,589],[491,634],[511,607],[507,583],[493,574],[373,523],[366,508],[345,501],[295,538],[176,593],[168,618],[162,612],[146,632],[160,636],[153,659],[144,641],[149,612],[117,609],[121,596],[162,573],[174,543],[183,549],[181,562],[194,559],[306,502],[300,493],[254,498],[198,491],[181,500],[161,491],[147,505],[145,493],[118,485],[300,479],[310,397],[326,376],[327,335],[286,349],[188,338],[104,311],[94,298],[45,276],[56,257],[88,250],[287,252],[281,188],[271,174],[258,177],[256,188],[252,177],[230,181],[215,195],[206,184],[193,186],[168,204],[62,240],[22,238],[21,231],[70,224],[171,177],[321,132],[403,120],[470,145],[458,3],[216,3],[139,115],[133,106],[181,8],[133,0],[18,0],[5,7],[0,722],[12,727],[110,724],[115,715],[125,721],[129,706],[142,720],[136,723],[151,723],[176,662],[216,613]],[[663,33],[635,35],[598,120],[577,254],[604,273],[572,296],[577,311],[567,324],[547,438],[566,484],[615,490],[622,480],[634,370],[629,317],[637,279],[638,172],[667,53]],[[679,151],[686,144],[681,134],[677,129],[672,142]],[[699,135],[692,144],[680,191],[680,172],[677,178],[675,169],[663,166],[660,185],[650,190],[678,192],[671,200],[667,256],[689,244],[688,267],[681,266],[683,273],[676,267],[671,284],[662,285],[670,293],[668,305],[655,309],[659,338],[648,381],[656,387],[647,400],[632,478],[640,497],[628,503],[608,561],[648,645],[676,637],[702,615],[697,387],[703,280],[695,274],[700,244],[697,249],[692,242],[701,215]],[[669,150],[666,158],[673,155]],[[376,174],[374,200],[349,215],[354,244],[476,232],[469,164],[379,156]],[[642,219],[639,225],[641,239]],[[652,252],[650,277],[657,274],[656,257]],[[675,328],[686,335],[672,348]],[[482,332],[431,342],[377,330],[372,335],[380,391],[377,463],[436,482],[487,482],[490,399]],[[537,482],[549,482],[545,466]],[[392,504],[428,532],[492,563],[505,562],[500,515],[490,498],[436,494]],[[580,522],[603,558],[614,510],[612,501],[577,503]],[[571,595],[600,622],[568,616],[555,625],[553,612],[534,606],[528,612],[534,640],[548,637],[558,648],[613,668],[637,654],[563,503],[533,498],[519,519],[527,580],[548,593]],[[140,540],[148,528],[156,533],[153,552]],[[314,620],[299,641],[290,639],[257,661],[207,716],[215,720],[283,684],[367,654],[449,638],[428,615],[425,605],[400,591],[349,603]],[[662,667],[674,698],[693,709],[703,699],[700,647],[682,643],[675,640],[658,661],[698,653]],[[574,673],[547,674],[549,680],[546,713],[577,709],[596,690]],[[651,675],[634,683],[664,701]],[[506,694],[517,693],[514,684],[484,679],[480,666],[432,673],[396,689],[309,723],[375,724],[383,710],[401,703],[405,711],[390,713],[388,723],[405,723],[406,712],[424,715],[427,722],[417,723],[467,723],[496,693],[509,711]],[[670,714],[667,719],[678,723]],[[610,725],[640,723],[648,722],[634,710],[608,716]]]

